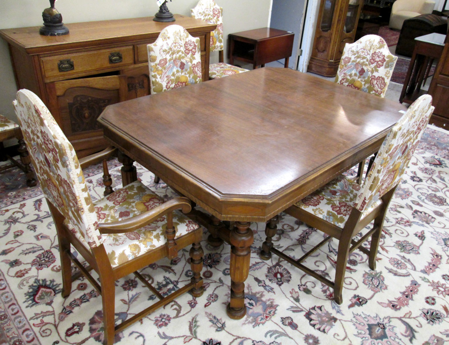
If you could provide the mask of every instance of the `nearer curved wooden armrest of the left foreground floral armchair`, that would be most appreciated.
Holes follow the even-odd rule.
[[[173,198],[138,216],[117,222],[100,223],[98,224],[98,230],[100,230],[100,233],[102,234],[131,232],[140,229],[149,223],[153,223],[156,219],[173,212],[174,210],[181,210],[183,213],[190,212],[190,210],[192,210],[190,200],[186,197]]]

